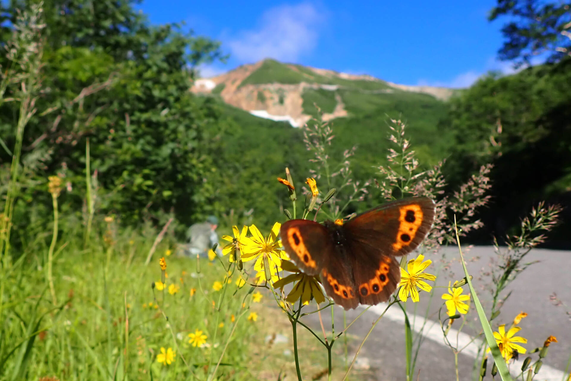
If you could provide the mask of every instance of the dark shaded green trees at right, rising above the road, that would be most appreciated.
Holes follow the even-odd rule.
[[[494,164],[492,201],[478,239],[501,239],[540,200],[569,202],[570,66],[564,60],[510,76],[490,74],[451,100],[441,122],[456,143],[445,167],[451,187],[480,165]]]

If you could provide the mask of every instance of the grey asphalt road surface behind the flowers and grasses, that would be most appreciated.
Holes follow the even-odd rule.
[[[481,271],[488,271],[490,268],[490,260],[496,258],[496,254],[491,247],[476,247],[468,252],[464,252],[465,257],[469,260],[468,271],[474,275],[473,283],[476,290],[480,291],[478,297],[487,307],[489,311],[490,302],[492,300],[489,291],[484,290],[486,284],[490,282],[490,278],[481,276]],[[435,274],[437,267],[455,260],[458,257],[457,249],[448,248],[443,254],[428,255],[434,262],[427,272]],[[510,325],[513,318],[525,311],[528,317],[520,323],[522,330],[518,335],[528,339],[528,343],[524,347],[532,350],[542,343],[549,335],[554,335],[558,339],[558,343],[553,343],[549,348],[549,354],[544,361],[545,374],[542,379],[552,379],[553,375],[558,376],[561,380],[562,373],[557,372],[565,370],[569,356],[571,356],[571,321],[569,316],[565,314],[565,307],[556,307],[549,300],[549,295],[554,291],[557,296],[567,305],[571,306],[571,252],[557,250],[532,250],[525,257],[525,262],[539,261],[531,265],[525,271],[518,275],[506,290],[506,293],[512,291],[512,294],[502,307],[501,315],[497,318],[497,323],[492,328],[495,330],[500,323]],[[455,275],[448,271],[439,271],[439,278],[436,285],[448,285],[448,281],[460,279],[463,277],[461,265],[456,261],[451,265],[451,270]],[[468,286],[464,287],[467,292]],[[424,315],[425,311],[429,311],[428,318],[433,321],[438,320],[438,310],[443,302],[440,295],[446,293],[447,289],[437,289],[432,305],[429,305],[427,294],[421,293],[421,301],[419,303],[408,302],[407,309],[417,315]],[[505,293],[505,294],[506,294]],[[415,310],[416,307],[416,310]],[[371,322],[375,321],[379,313],[384,308],[377,308],[376,311],[367,311],[355,325],[349,329],[349,334],[355,339],[351,343],[353,351],[361,342],[361,339],[367,334],[371,327]],[[391,307],[390,317],[385,315],[373,330],[365,346],[361,350],[360,358],[364,362],[368,362],[375,374],[377,380],[404,380],[405,374],[405,351],[404,351],[404,326],[399,317],[399,307]],[[389,310],[389,311],[391,311]],[[569,310],[569,309],[567,309]],[[351,321],[356,317],[362,309],[349,311],[347,320]],[[443,310],[443,315],[445,310]],[[471,317],[470,326],[465,326],[463,333],[474,335],[478,332],[477,318],[475,311],[472,309],[469,315]],[[325,327],[331,327],[331,314],[329,312],[322,314]],[[319,329],[319,320],[317,314],[309,315],[307,322],[315,329]],[[417,323],[418,324],[418,323]],[[336,307],[335,309],[335,326],[336,331],[340,331],[343,327],[343,309]],[[459,328],[458,321],[453,326]],[[327,329],[327,328],[326,328]],[[319,329],[320,330],[320,329]],[[439,326],[435,326],[433,333],[439,331]],[[417,371],[420,370],[420,380],[455,380],[454,356],[450,348],[443,346],[442,338],[432,335],[432,338],[425,339],[421,346],[419,359],[417,360]],[[470,380],[473,355],[470,355],[471,348],[468,348],[467,354],[460,354],[459,368],[460,379]],[[533,359],[536,359],[535,355]],[[521,359],[524,359],[522,356]],[[551,368],[551,369],[550,369]],[[549,371],[554,371],[549,374]],[[491,379],[488,376],[486,379]]]

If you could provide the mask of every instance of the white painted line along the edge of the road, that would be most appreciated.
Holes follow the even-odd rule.
[[[365,309],[365,307],[361,305],[359,306],[359,308]],[[379,303],[376,306],[372,306],[369,309],[369,311],[375,313],[377,316],[380,316],[386,308],[387,308],[387,303]],[[398,323],[404,323],[403,311],[401,311],[398,308],[395,308],[395,306],[389,308],[383,318],[387,318],[391,321]],[[444,333],[440,328],[439,322],[427,319],[426,324],[424,324],[424,317],[410,313],[408,314],[408,319],[409,321],[411,321],[412,324],[411,328],[413,331],[415,331],[416,333],[420,333],[420,330],[423,329],[424,325],[423,329],[424,337],[431,339],[432,341],[435,341],[439,344],[442,344],[443,346],[446,346],[444,341]],[[480,345],[482,344],[482,340],[474,339],[472,336],[468,334],[459,332],[455,329],[450,329],[450,331],[448,332],[448,338],[450,339],[450,342],[452,344],[456,344],[456,340],[453,340],[453,338],[456,338],[456,335],[458,335],[457,347],[462,348],[466,346],[461,353],[476,358],[478,353],[478,347],[480,347]],[[521,373],[521,366],[524,363],[523,360],[525,359],[525,356],[520,355],[520,359],[521,360],[517,360],[516,362],[511,363],[510,365],[510,373],[514,376],[517,376],[518,374]],[[488,374],[490,370],[491,367],[488,366],[488,372],[487,372]],[[540,371],[535,376],[535,379],[536,381],[561,381],[564,379],[564,376],[565,376],[564,372],[543,364],[541,366]]]

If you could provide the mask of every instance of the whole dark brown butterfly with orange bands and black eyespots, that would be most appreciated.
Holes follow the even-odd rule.
[[[319,275],[325,292],[345,310],[386,302],[400,282],[396,257],[412,252],[435,216],[428,197],[391,201],[351,220],[289,220],[280,229],[289,258]]]

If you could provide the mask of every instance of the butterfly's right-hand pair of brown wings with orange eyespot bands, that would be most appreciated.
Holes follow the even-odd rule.
[[[343,225],[360,302],[385,302],[400,282],[395,256],[412,252],[428,234],[435,215],[428,197],[377,206]]]

